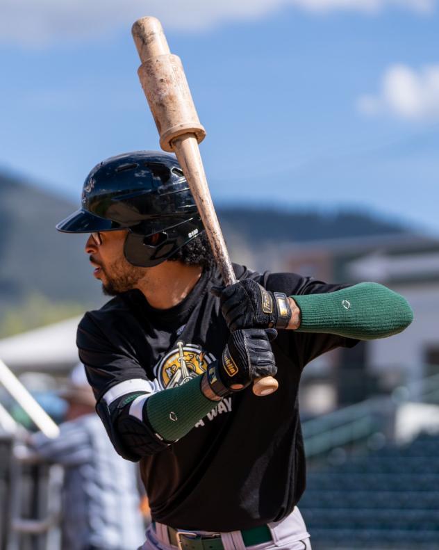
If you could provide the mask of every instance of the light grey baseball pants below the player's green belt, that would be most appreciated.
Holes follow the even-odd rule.
[[[310,535],[306,531],[304,519],[301,517],[299,508],[275,523],[268,524],[272,541],[256,544],[247,549],[251,550],[311,550]],[[200,535],[209,535],[208,531],[196,531]],[[176,550],[169,542],[167,527],[156,523],[149,526],[146,533],[147,540],[139,550]],[[245,550],[240,531],[221,533],[224,550]]]

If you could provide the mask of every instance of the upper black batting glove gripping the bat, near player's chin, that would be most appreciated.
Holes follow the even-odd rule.
[[[288,327],[291,308],[282,292],[267,291],[251,279],[243,279],[226,288],[213,286],[210,292],[219,298],[231,331],[249,327]]]

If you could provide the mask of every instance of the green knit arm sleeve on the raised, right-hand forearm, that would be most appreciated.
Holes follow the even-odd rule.
[[[413,311],[406,299],[374,282],[291,298],[301,311],[297,332],[325,332],[372,340],[397,334],[413,321]]]

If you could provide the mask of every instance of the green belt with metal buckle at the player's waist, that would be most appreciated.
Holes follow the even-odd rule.
[[[194,531],[180,531],[172,527],[167,527],[169,542],[179,548],[179,550],[224,550],[221,540],[221,533],[212,533],[212,535],[200,535]],[[241,531],[242,540],[246,547],[270,542],[272,533],[268,526],[261,525],[252,529],[243,529]]]

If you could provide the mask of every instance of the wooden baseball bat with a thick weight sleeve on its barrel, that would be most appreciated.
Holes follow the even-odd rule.
[[[183,65],[180,58],[169,51],[163,28],[156,17],[138,19],[133,24],[132,33],[142,61],[138,75],[160,135],[160,147],[164,151],[174,152],[179,160],[224,284],[229,286],[236,282],[236,277],[210,197],[198,147],[206,131],[199,122]],[[272,394],[277,387],[277,380],[267,376],[255,380],[253,391],[258,396],[264,396]]]

